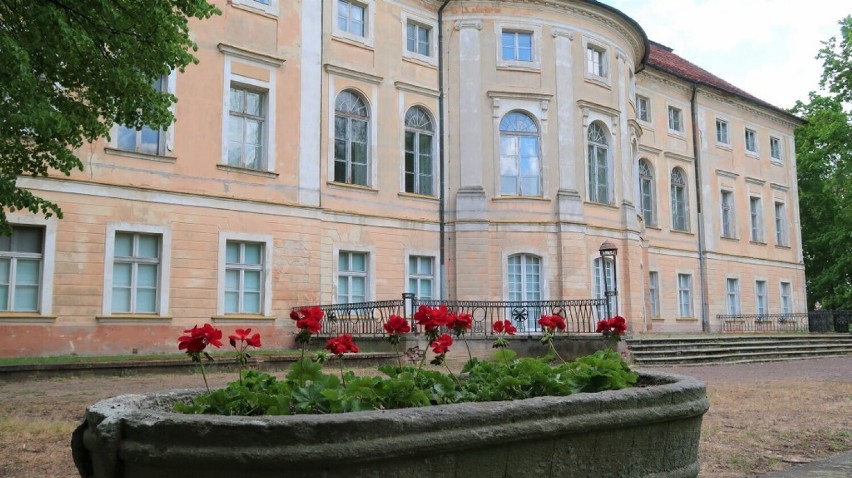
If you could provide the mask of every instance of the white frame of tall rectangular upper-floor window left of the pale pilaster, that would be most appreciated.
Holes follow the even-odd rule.
[[[259,80],[241,76],[232,72],[234,62],[245,64],[253,68],[261,68],[269,74],[269,80]],[[225,54],[225,80],[222,87],[222,157],[220,167],[224,169],[234,169],[236,171],[260,171],[260,172],[275,172],[275,135],[277,132],[276,123],[276,88],[275,88],[276,71],[275,67],[268,63],[253,61],[244,57],[235,58],[234,56]],[[265,96],[264,107],[266,108],[266,117],[264,119],[263,139],[261,140],[261,150],[263,151],[262,164],[260,169],[243,168],[240,166],[231,166],[228,164],[228,125],[231,111],[231,86],[247,88],[253,91],[263,93]]]

